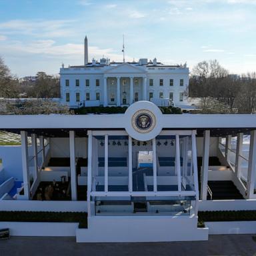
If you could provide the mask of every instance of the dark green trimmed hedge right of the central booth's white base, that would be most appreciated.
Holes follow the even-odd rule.
[[[199,211],[199,222],[256,221],[256,211]]]

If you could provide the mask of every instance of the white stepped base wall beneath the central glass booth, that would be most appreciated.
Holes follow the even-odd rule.
[[[77,242],[159,242],[208,239],[208,229],[197,229],[197,218],[185,216],[97,216],[88,229],[77,229]]]

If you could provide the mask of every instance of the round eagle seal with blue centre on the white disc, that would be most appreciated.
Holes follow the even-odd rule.
[[[147,109],[141,109],[133,115],[131,123],[135,131],[149,133],[155,127],[155,115]]]

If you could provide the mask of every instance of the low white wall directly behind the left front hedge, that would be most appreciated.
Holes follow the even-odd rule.
[[[87,212],[87,201],[1,201],[0,211],[79,211]]]

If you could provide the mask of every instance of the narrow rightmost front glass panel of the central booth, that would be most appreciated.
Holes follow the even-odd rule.
[[[194,191],[191,136],[179,136],[179,150],[181,156],[181,190]]]

